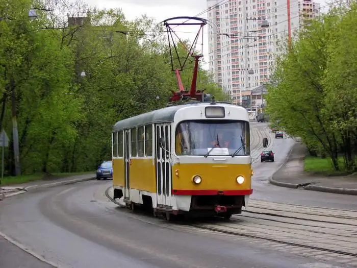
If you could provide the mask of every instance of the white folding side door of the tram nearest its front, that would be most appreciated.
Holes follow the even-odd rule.
[[[171,207],[171,124],[156,124],[156,182],[158,205]],[[164,149],[160,147],[160,138]]]

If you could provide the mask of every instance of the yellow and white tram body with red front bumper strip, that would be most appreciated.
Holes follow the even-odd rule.
[[[248,112],[220,102],[170,106],[113,128],[114,199],[157,215],[241,213],[251,188]]]

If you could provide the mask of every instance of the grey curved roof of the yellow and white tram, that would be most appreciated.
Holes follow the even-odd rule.
[[[209,102],[188,103],[188,104],[183,104],[183,105],[169,106],[169,107],[165,107],[165,108],[162,108],[159,110],[139,114],[139,115],[118,121],[114,125],[113,131],[119,131],[119,130],[123,130],[123,129],[129,129],[129,128],[134,128],[134,127],[147,125],[147,124],[153,124],[153,123],[172,122],[173,117],[175,116],[175,113],[184,107],[206,106],[209,104],[210,104]],[[227,102],[216,102],[216,104],[236,106],[234,104],[227,103]]]

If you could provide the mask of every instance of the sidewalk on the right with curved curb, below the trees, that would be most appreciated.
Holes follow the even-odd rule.
[[[307,152],[301,143],[295,143],[287,162],[269,179],[271,184],[303,188],[305,190],[357,195],[357,179],[349,176],[312,176],[304,172],[303,160]]]

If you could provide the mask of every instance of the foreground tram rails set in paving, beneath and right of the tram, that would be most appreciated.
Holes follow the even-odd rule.
[[[125,207],[111,198],[109,189],[110,187],[106,190],[107,198],[118,206]],[[293,206],[287,205],[287,207]],[[220,238],[228,240],[255,240],[258,245],[264,246],[265,244],[266,247],[274,247],[274,250],[286,251],[286,247],[288,247],[291,248],[292,253],[295,251],[296,254],[300,254],[301,249],[305,249],[309,254],[316,255],[318,259],[324,259],[325,255],[335,254],[334,258],[336,259],[346,260],[345,258],[348,257],[350,258],[349,262],[357,262],[356,225],[344,222],[345,220],[353,221],[354,216],[345,217],[337,213],[330,215],[325,220],[316,220],[314,217],[321,216],[320,214],[323,213],[314,214],[309,211],[311,208],[308,207],[301,207],[301,209],[307,210],[305,215],[313,218],[281,215],[278,212],[270,213],[267,211],[268,209],[265,209],[263,213],[253,210],[243,211],[242,214],[233,215],[230,221],[216,217],[209,221],[167,222],[149,215],[144,217],[145,219],[155,219],[159,221],[157,224],[177,231],[210,236],[220,234]],[[282,208],[282,213],[286,212],[284,210],[287,209]],[[356,213],[353,211],[342,211],[341,213],[347,212]],[[281,220],[282,218],[284,220]]]

